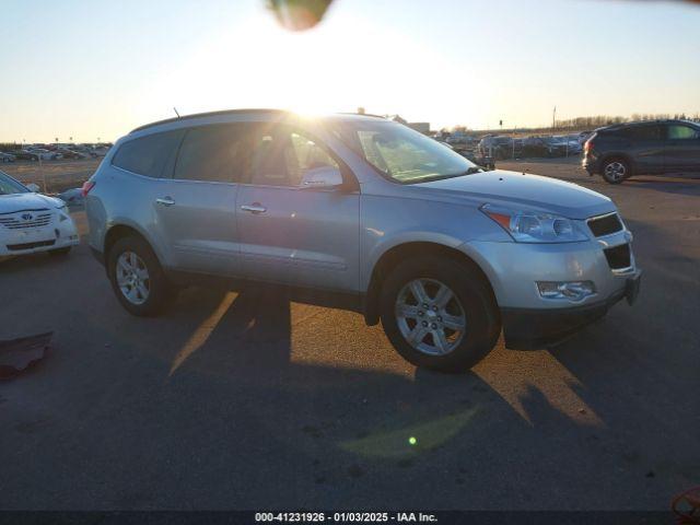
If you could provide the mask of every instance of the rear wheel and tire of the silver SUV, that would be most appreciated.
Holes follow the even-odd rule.
[[[107,254],[107,275],[121,306],[131,315],[162,314],[177,295],[155,253],[138,236],[121,237],[112,246]]]

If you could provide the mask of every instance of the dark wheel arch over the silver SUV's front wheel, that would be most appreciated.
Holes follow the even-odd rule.
[[[406,242],[386,249],[377,259],[372,268],[372,275],[368,284],[368,289],[364,295],[364,320],[368,325],[373,326],[380,322],[380,294],[384,280],[389,275],[393,268],[396,268],[398,264],[408,257],[415,257],[418,255],[441,255],[448,257],[460,264],[467,265],[472,268],[477,275],[479,275],[483,281],[489,285],[493,301],[495,302],[495,294],[493,292],[493,285],[488,275],[481,266],[469,255],[460,249],[440,244],[435,242],[416,241]]]

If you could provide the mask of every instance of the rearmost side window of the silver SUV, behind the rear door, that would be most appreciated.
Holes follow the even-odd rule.
[[[170,177],[165,166],[175,154],[182,131],[154,133],[125,142],[114,155],[112,164],[147,177]]]

